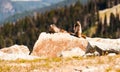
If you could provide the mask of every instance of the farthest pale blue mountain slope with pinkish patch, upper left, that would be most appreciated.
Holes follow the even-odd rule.
[[[58,3],[62,0],[40,0],[40,1],[11,1],[0,0],[0,22],[4,22],[6,18],[16,13],[42,8]]]

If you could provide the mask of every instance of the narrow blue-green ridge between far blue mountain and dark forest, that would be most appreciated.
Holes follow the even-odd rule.
[[[45,6],[43,8],[42,7],[34,8],[34,9],[31,9],[31,10],[23,11],[21,13],[16,13],[16,14],[6,18],[5,22],[16,22],[17,20],[22,19],[26,16],[34,16],[35,13],[45,13],[45,12],[53,10],[53,9],[64,7],[65,5],[69,6],[71,4],[74,4],[76,1],[77,0],[74,0],[74,1],[73,0],[68,0],[68,1],[65,0],[65,1],[62,1],[62,2],[59,2],[59,3],[56,3],[56,4]]]

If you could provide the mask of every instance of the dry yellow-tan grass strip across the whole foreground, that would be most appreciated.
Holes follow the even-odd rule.
[[[101,57],[46,58],[35,60],[0,60],[0,72],[120,72],[120,55]]]

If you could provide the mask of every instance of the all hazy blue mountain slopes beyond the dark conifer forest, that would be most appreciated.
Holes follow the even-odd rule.
[[[25,16],[33,16],[34,12],[44,13],[52,9],[61,8],[75,4],[78,0],[42,0],[42,1],[1,1],[0,8],[0,24],[4,22],[15,22]],[[80,0],[82,4],[86,4],[88,0]],[[5,10],[5,4],[9,3],[12,9]],[[3,6],[2,6],[3,5]],[[4,12],[4,10],[6,12]],[[8,11],[9,10],[9,11]]]

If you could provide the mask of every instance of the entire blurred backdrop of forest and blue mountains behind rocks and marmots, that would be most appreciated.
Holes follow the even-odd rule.
[[[88,37],[120,38],[120,0],[0,0],[0,48],[30,50],[49,25],[73,32],[76,21]]]

